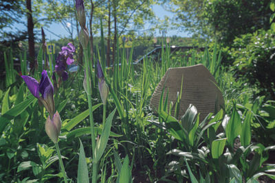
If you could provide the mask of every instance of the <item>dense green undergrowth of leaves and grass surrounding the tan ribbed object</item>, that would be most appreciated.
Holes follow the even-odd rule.
[[[98,182],[121,182],[127,178],[129,182],[257,182],[262,175],[275,178],[272,164],[275,162],[270,158],[275,148],[274,101],[256,96],[259,88],[245,78],[236,80],[235,68],[223,64],[216,45],[209,50],[193,50],[181,58],[163,49],[160,62],[145,59],[134,64],[133,48],[129,58],[123,49],[113,68],[102,67],[110,90],[106,114],[115,108],[117,112],[98,162]],[[21,73],[39,80],[42,69],[46,69],[52,76],[49,67],[43,68],[42,58],[43,52],[39,51],[39,67],[28,73],[23,56]],[[95,59],[100,60],[100,53]],[[17,77],[12,54],[5,60],[6,80],[1,81],[5,90],[0,90],[0,181],[62,182],[54,143],[44,130],[47,111]],[[103,61],[101,58],[100,62]],[[151,95],[167,69],[199,63],[217,80],[225,107],[199,123],[197,109],[190,105],[177,120],[170,115],[174,113],[167,110],[170,104],[162,96],[164,102],[160,102],[157,113],[153,112],[149,107]],[[104,107],[98,92],[98,70],[90,71],[95,138],[99,141],[99,136],[104,134]],[[67,178],[72,182],[79,182],[83,152],[89,180],[92,178],[93,152],[84,72],[80,67],[77,72],[69,73],[68,80],[57,80],[54,93],[56,110],[62,119],[58,143]]]

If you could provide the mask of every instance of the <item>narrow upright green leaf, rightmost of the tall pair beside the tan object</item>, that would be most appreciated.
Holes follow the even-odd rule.
[[[251,141],[250,123],[252,121],[252,112],[248,110],[245,112],[245,120],[243,121],[241,128],[241,145],[248,146]]]

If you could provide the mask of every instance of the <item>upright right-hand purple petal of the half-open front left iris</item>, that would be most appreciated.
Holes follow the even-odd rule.
[[[54,86],[47,76],[47,71],[43,70],[41,81],[39,84],[39,92],[42,94],[43,99],[47,98],[47,95],[54,95]]]

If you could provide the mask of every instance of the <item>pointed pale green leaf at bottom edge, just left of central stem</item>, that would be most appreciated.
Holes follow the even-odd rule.
[[[80,148],[79,148],[79,161],[78,161],[78,183],[89,183],[89,173],[87,168],[87,162],[85,157],[85,151],[83,148],[83,144],[80,141]]]

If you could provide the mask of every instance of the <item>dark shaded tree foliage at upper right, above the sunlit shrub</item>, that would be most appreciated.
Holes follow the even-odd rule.
[[[269,29],[270,1],[206,1],[204,15],[213,32],[224,45],[232,44],[236,36]],[[259,16],[261,14],[261,16]]]

